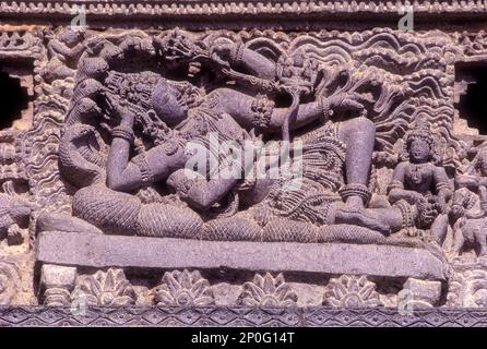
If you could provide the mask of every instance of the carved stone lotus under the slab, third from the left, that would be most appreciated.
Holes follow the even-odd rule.
[[[238,303],[248,306],[295,306],[298,296],[285,282],[283,274],[275,278],[265,273],[256,274],[251,282],[243,284]]]

